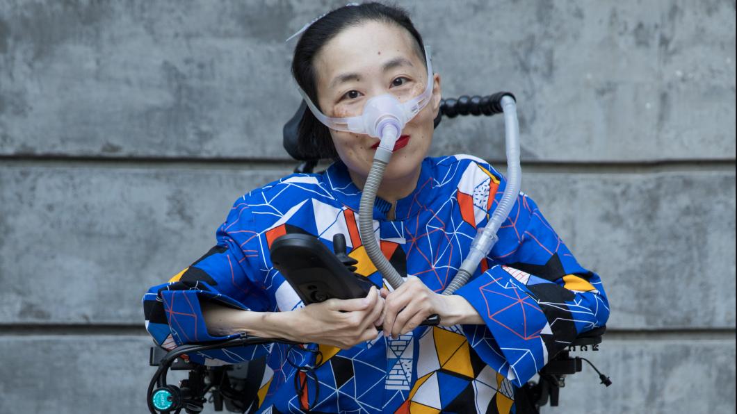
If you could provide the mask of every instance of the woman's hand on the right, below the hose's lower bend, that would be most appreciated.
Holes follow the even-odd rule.
[[[422,281],[410,276],[397,290],[381,290],[384,301],[384,336],[399,337],[412,331],[430,315],[439,315],[442,326],[458,323],[483,324],[483,319],[468,301],[458,295],[433,292]]]

